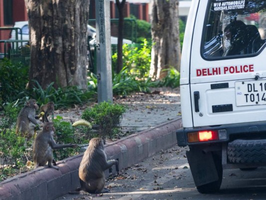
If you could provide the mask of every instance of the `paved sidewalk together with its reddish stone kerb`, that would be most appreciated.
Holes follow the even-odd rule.
[[[119,99],[129,109],[123,116],[123,130],[132,132],[127,137],[108,142],[108,159],[119,160],[119,170],[171,147],[177,143],[176,129],[182,126],[179,89],[137,94]],[[116,101],[115,101],[116,102]],[[65,120],[76,121],[82,110],[60,113]],[[55,113],[56,115],[56,113]],[[55,199],[79,186],[78,167],[83,154],[58,161],[59,170],[39,167],[0,182],[0,199]],[[105,174],[115,173],[115,166]]]

